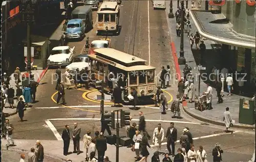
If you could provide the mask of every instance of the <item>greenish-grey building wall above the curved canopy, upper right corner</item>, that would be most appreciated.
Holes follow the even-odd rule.
[[[255,7],[248,6],[245,1],[237,4],[235,1],[226,1],[222,6],[224,14],[233,24],[234,31],[255,37]]]

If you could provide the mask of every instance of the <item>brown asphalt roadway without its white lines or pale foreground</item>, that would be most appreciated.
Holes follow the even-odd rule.
[[[149,3],[149,11],[147,9]],[[167,4],[167,3],[166,3]],[[149,14],[149,20],[148,20]],[[96,12],[93,12],[94,21],[96,20]],[[148,21],[150,35],[148,35]],[[152,2],[149,1],[123,1],[121,4],[120,12],[120,25],[121,31],[118,36],[111,37],[111,47],[117,50],[121,50],[130,53],[134,56],[148,60],[152,66],[160,71],[161,65],[170,65],[171,69],[174,68],[174,62],[172,53],[170,50],[170,37],[168,33],[167,21],[164,10],[153,10]],[[175,31],[174,31],[175,32]],[[96,35],[96,28],[87,34],[92,40],[99,39],[101,36]],[[148,39],[148,37],[150,39]],[[86,38],[85,38],[86,39]],[[69,46],[75,46],[76,55],[83,51],[85,39],[79,42],[69,42]],[[148,47],[150,44],[150,48]],[[174,73],[174,70],[171,70]],[[34,139],[34,140],[56,140],[52,130],[46,125],[45,120],[56,118],[100,118],[99,107],[90,107],[90,105],[99,105],[82,98],[82,94],[86,91],[80,91],[76,89],[66,90],[66,107],[54,108],[59,106],[52,100],[55,91],[55,82],[53,82],[55,69],[49,69],[42,78],[40,85],[37,88],[37,100],[32,109],[25,112],[25,122],[18,122],[17,115],[9,117],[11,123],[14,124],[15,131],[13,134],[14,139]],[[62,70],[64,72],[64,69]],[[167,90],[170,94],[175,96],[176,83],[171,83],[174,90]],[[53,96],[56,99],[56,95]],[[175,99],[175,98],[174,98]],[[84,105],[84,107],[74,107],[74,105]],[[48,107],[46,109],[36,109],[36,107]],[[50,107],[50,108],[49,108]],[[53,108],[51,108],[53,107]],[[129,110],[127,107],[123,107],[123,110]],[[105,110],[115,110],[113,107],[105,107]],[[159,110],[141,108],[139,111],[143,111],[146,119],[156,120],[147,122],[147,130],[152,134],[153,129],[157,126],[160,119]],[[131,111],[131,115],[134,119],[138,119],[139,111]],[[223,132],[223,127],[214,127],[209,125],[201,125],[200,121],[194,120],[182,114],[183,119],[170,118],[172,114],[170,112],[167,115],[163,115],[162,120],[174,121],[175,126],[178,129],[178,137],[182,134],[184,127],[189,127],[193,137],[202,137],[210,134],[216,134]],[[69,124],[73,128],[73,123],[78,122],[81,126],[81,137],[86,131],[92,132],[100,130],[100,122],[95,120],[50,120],[53,126],[57,129],[57,132],[61,134],[65,124]],[[178,123],[180,121],[183,123]],[[184,123],[184,122],[194,122]],[[137,122],[138,123],[138,122]],[[164,130],[167,129],[169,122],[161,122]],[[114,132],[114,130],[112,130]],[[105,132],[106,133],[106,132]],[[125,135],[125,130],[120,130],[121,136]],[[223,136],[209,137],[205,139],[195,140],[195,145],[198,147],[202,145],[210,156],[211,149],[214,144],[219,142],[222,144],[222,148],[225,149],[223,154],[224,161],[246,161],[251,158],[254,148],[254,134],[246,132],[234,133],[232,135],[225,134]],[[236,142],[234,142],[236,141]],[[152,143],[152,141],[150,141]],[[177,145],[179,147],[179,145]],[[129,149],[128,149],[129,150]]]

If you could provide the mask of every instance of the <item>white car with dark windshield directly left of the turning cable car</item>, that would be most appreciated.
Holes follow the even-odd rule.
[[[77,68],[79,69],[79,71],[81,71],[82,68],[85,67],[88,67],[88,69],[90,70],[89,58],[87,54],[80,54],[74,57],[71,64],[67,66],[71,75],[75,75]]]

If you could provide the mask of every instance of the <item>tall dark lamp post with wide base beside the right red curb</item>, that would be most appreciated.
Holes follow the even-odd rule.
[[[180,57],[178,59],[179,65],[185,65],[186,59],[184,58],[184,0],[181,1],[181,38],[180,38]]]

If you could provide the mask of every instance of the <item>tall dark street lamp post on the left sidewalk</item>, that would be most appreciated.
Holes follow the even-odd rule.
[[[36,1],[23,1],[22,2],[22,12],[23,18],[22,21],[27,23],[27,58],[28,58],[28,72],[31,71],[31,34],[30,34],[30,26],[31,23],[34,22],[34,8]]]

